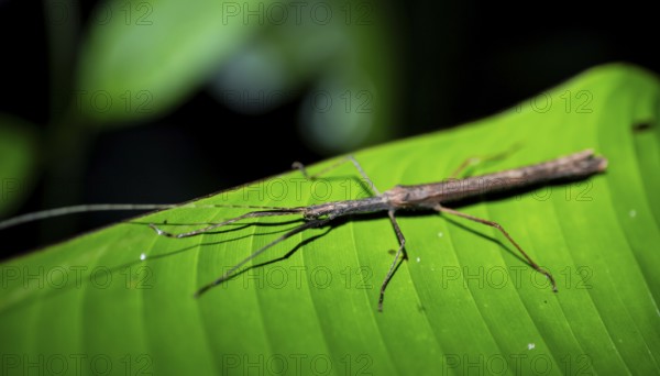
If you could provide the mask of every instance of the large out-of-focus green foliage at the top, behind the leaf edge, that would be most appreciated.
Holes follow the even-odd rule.
[[[117,125],[162,117],[210,80],[244,113],[305,90],[310,142],[352,150],[386,140],[395,118],[387,16],[370,1],[110,0],[80,52],[77,104],[91,125]]]

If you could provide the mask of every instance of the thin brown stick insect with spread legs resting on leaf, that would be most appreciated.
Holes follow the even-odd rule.
[[[376,193],[374,197],[369,197],[358,200],[345,200],[345,201],[333,201],[321,204],[314,204],[309,207],[294,207],[294,208],[280,208],[272,210],[253,211],[243,215],[220,222],[212,225],[194,230],[190,232],[174,234],[158,229],[156,225],[151,226],[160,234],[168,237],[188,237],[208,232],[213,229],[241,221],[249,218],[258,217],[272,217],[272,215],[290,215],[301,214],[305,219],[305,223],[295,228],[294,230],[285,233],[278,239],[272,241],[265,246],[254,251],[249,257],[234,265],[227,273],[220,276],[215,281],[200,288],[196,296],[200,296],[213,286],[217,286],[224,280],[229,279],[234,273],[244,264],[253,259],[254,257],[262,254],[273,245],[308,229],[320,228],[332,220],[351,214],[363,214],[387,211],[389,220],[394,226],[394,231],[399,241],[399,247],[395,255],[395,259],[383,280],[381,286],[381,292],[378,297],[378,310],[383,310],[383,299],[385,298],[385,288],[392,279],[396,265],[399,262],[402,255],[406,258],[405,244],[406,239],[396,221],[395,213],[398,210],[411,210],[411,209],[427,209],[436,210],[441,213],[453,214],[462,217],[479,223],[483,223],[499,230],[506,239],[520,252],[520,254],[527,259],[531,267],[537,272],[548,277],[552,284],[553,291],[557,291],[557,284],[552,275],[546,269],[541,268],[522,248],[516,243],[513,237],[496,222],[472,217],[453,209],[446,208],[444,204],[457,202],[460,200],[480,197],[485,193],[508,191],[513,189],[526,188],[530,186],[538,186],[541,184],[549,184],[553,181],[560,181],[564,179],[581,179],[586,178],[596,173],[604,172],[607,167],[607,159],[604,157],[595,156],[593,151],[586,150],[580,153],[563,156],[557,159],[552,159],[536,165],[526,167],[508,169],[499,173],[468,177],[464,179],[452,179],[440,183],[431,183],[416,186],[395,186],[394,188],[380,193],[373,186],[366,174],[362,170],[358,162],[349,157],[360,174],[370,183],[372,189]],[[299,167],[302,173],[307,176],[304,167]]]

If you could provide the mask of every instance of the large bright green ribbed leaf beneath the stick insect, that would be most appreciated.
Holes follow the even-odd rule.
[[[658,374],[659,89],[647,71],[607,65],[488,119],[355,154],[381,190],[440,180],[514,144],[470,173],[584,148],[606,156],[606,174],[586,181],[460,208],[501,223],[553,273],[558,294],[496,230],[414,213],[398,217],[409,258],[383,313],[380,284],[397,246],[386,215],[292,236],[254,261],[272,263],[194,299],[299,222],[250,220],[178,240],[146,225],[166,220],[180,232],[244,212],[178,208],[3,263],[2,365],[8,375],[61,364],[173,375]],[[354,176],[350,164],[314,181],[286,173],[197,203],[364,197]]]

